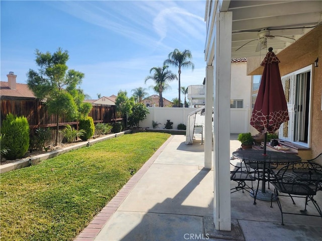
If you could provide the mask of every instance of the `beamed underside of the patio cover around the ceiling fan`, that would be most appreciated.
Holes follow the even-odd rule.
[[[232,12],[232,58],[265,56],[269,47],[273,47],[276,54],[281,53],[279,58],[283,58],[284,54],[288,54],[288,57],[289,54],[294,57],[301,56],[305,52],[305,44],[302,43],[301,47],[297,48],[296,46],[299,46],[297,42],[303,42],[301,37],[322,22],[321,0],[223,1],[223,3],[221,11]],[[256,52],[258,33],[262,29],[270,30],[272,36],[289,37],[296,42],[288,43],[277,38],[267,39],[267,47]],[[307,44],[315,41],[314,38],[314,35],[311,35],[311,40],[307,40]],[[248,43],[251,40],[254,41]],[[243,46],[244,44],[246,45]],[[294,47],[291,52],[284,53],[283,50],[292,45]],[[238,48],[240,49],[237,50]]]

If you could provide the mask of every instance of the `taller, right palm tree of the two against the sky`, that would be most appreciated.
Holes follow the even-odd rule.
[[[181,75],[181,67],[191,67],[192,70],[195,68],[195,65],[189,60],[192,59],[192,55],[190,50],[186,49],[183,52],[180,52],[179,49],[175,49],[168,55],[168,59],[165,60],[164,64],[169,64],[173,66],[177,66],[179,68],[179,103],[181,102],[180,98],[180,75]]]

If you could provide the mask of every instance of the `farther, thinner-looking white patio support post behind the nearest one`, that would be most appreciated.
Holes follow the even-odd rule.
[[[207,169],[212,168],[212,106],[213,106],[213,66],[206,69],[206,99],[205,99],[205,163]]]

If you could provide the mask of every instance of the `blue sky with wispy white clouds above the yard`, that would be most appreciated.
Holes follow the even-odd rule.
[[[182,69],[181,86],[205,77],[205,1],[1,1],[1,81],[10,71],[26,83],[37,70],[35,50],[67,50],[69,69],[85,74],[81,88],[93,99],[149,88],[144,79],[175,48],[189,49],[195,69]],[[178,69],[170,67],[174,73]],[[164,97],[178,97],[178,81]],[[183,99],[183,95],[181,95]]]

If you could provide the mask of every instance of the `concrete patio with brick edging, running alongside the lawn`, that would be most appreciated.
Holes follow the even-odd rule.
[[[239,146],[231,135],[230,152]],[[215,230],[213,171],[203,168],[203,148],[200,140],[185,145],[185,136],[171,136],[74,241],[322,240],[322,218],[284,214],[283,226],[276,202],[254,205],[241,191],[231,194],[233,231]],[[322,206],[322,192],[315,200]],[[295,202],[281,197],[285,211],[303,209],[304,199]],[[317,214],[311,204],[307,210]]]

